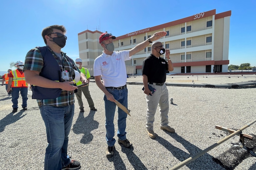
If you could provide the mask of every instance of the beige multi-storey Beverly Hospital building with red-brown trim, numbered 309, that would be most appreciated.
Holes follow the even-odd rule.
[[[231,11],[216,14],[214,9],[127,33],[115,39],[115,51],[131,49],[155,32],[166,31],[167,35],[158,41],[165,49],[170,49],[174,65],[170,74],[227,72],[230,16]],[[98,42],[100,34],[102,32],[97,30],[78,33],[79,57],[91,75],[94,60],[103,50]],[[151,44],[125,61],[127,74],[141,75],[142,62],[150,53]],[[165,55],[161,57],[165,58]]]

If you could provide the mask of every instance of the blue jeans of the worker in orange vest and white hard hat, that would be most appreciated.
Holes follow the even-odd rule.
[[[11,102],[12,102],[12,108],[18,108],[18,98],[19,98],[19,92],[22,96],[22,107],[27,107],[27,100],[28,100],[28,87],[12,87],[11,88]]]

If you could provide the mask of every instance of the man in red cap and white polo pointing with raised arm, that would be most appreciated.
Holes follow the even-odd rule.
[[[167,32],[156,32],[152,37],[139,43],[130,50],[114,51],[113,39],[115,36],[109,33],[103,33],[99,37],[99,43],[102,46],[103,53],[94,61],[94,76],[97,86],[105,93],[105,116],[106,116],[106,140],[108,148],[107,158],[114,155],[115,150],[115,128],[114,115],[116,110],[115,99],[127,108],[128,90],[126,87],[126,67],[125,60],[130,60],[131,56],[146,48],[150,43],[165,36]],[[101,78],[103,83],[101,82]],[[126,139],[126,117],[127,114],[118,108],[118,144],[125,147],[131,147],[131,143]]]

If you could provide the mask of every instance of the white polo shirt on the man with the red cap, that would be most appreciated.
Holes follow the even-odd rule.
[[[94,61],[94,76],[101,76],[105,87],[121,87],[126,84],[126,60],[130,60],[129,50],[113,51],[107,55],[104,52]]]

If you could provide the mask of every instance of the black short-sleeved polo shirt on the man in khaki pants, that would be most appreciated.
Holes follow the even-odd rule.
[[[153,54],[144,59],[142,64],[142,75],[148,77],[148,82],[164,83],[166,70],[168,70],[168,62],[161,57],[155,57]]]

